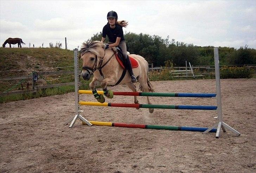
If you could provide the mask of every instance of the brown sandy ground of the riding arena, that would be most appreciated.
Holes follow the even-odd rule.
[[[215,80],[152,82],[156,92],[214,93]],[[128,91],[127,87],[111,87]],[[256,79],[221,80],[224,122],[241,133],[168,131],[63,123],[74,93],[0,104],[0,172],[256,172]],[[92,95],[80,100],[94,101]],[[114,96],[106,102],[133,103]],[[146,104],[146,98],[139,98]],[[152,104],[216,105],[213,98],[151,97]],[[216,111],[86,107],[87,120],[210,127]]]

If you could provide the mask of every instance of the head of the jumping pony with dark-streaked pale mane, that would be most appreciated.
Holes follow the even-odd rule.
[[[82,77],[89,80],[96,70],[98,57],[104,56],[104,44],[100,41],[84,42],[80,52],[83,60]]]

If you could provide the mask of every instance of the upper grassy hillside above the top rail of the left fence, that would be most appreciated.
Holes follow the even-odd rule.
[[[10,71],[1,72],[0,76],[27,75],[35,69],[73,66],[73,51],[60,48],[1,47],[0,64],[0,71]],[[49,69],[45,71],[49,71]]]

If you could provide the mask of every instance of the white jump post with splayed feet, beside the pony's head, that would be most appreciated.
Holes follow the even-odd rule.
[[[83,118],[80,113],[83,112],[82,110],[80,110],[78,102],[79,102],[79,94],[78,94],[78,90],[79,90],[79,74],[78,74],[78,69],[79,69],[79,64],[78,64],[78,49],[74,49],[74,68],[75,68],[75,109],[76,109],[76,115],[75,117],[70,118],[68,121],[66,121],[64,123],[64,125],[67,125],[70,123],[69,127],[73,127],[76,120],[79,118],[81,121],[84,121],[87,125],[92,126],[92,124],[87,121],[85,118]]]

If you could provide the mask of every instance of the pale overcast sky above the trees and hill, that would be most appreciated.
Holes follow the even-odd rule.
[[[49,47],[81,46],[102,31],[107,13],[129,21],[124,32],[159,35],[198,46],[256,48],[256,1],[3,1],[0,44],[11,38]],[[8,47],[8,45],[7,45]],[[15,45],[14,47],[17,47]],[[129,50],[128,50],[129,51]]]

